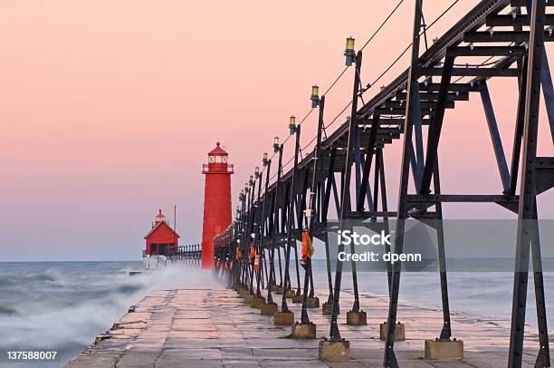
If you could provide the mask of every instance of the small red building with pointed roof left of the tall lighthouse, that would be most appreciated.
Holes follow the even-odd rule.
[[[144,237],[147,241],[146,254],[169,256],[177,252],[179,235],[167,224],[167,218],[159,210],[152,221],[152,229]]]

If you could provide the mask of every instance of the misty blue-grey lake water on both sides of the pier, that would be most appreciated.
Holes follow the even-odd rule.
[[[190,268],[140,276],[120,272],[137,269],[142,269],[141,262],[0,262],[0,351],[9,348],[57,350],[65,363],[91,344],[95,336],[110,329],[129,305],[138,303],[151,290],[222,287],[215,283],[209,271]],[[294,269],[292,264],[292,285],[296,286]],[[318,287],[327,286],[325,261],[314,260],[314,280]],[[551,287],[554,273],[545,273],[544,282],[549,325],[554,325]],[[508,272],[450,273],[451,310],[509,320],[512,283],[513,275]],[[404,273],[400,285],[402,301],[440,305],[438,274]],[[384,272],[359,273],[358,286],[364,292],[387,295],[387,276]],[[351,288],[351,274],[343,275],[342,287]],[[536,326],[532,277],[529,289],[527,321]],[[322,293],[321,300],[326,296]],[[62,363],[35,363],[34,366],[61,366]],[[33,365],[5,363],[5,366]]]

